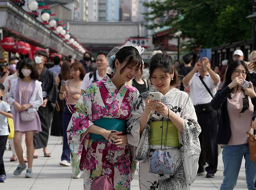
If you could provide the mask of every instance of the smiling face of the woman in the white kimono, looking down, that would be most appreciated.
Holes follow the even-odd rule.
[[[156,68],[151,75],[151,82],[160,92],[167,92],[170,89],[171,78],[174,73],[165,73],[161,68]]]

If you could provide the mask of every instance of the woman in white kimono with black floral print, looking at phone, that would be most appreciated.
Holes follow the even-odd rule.
[[[140,161],[140,190],[188,190],[196,178],[201,152],[195,108],[189,95],[174,87],[178,82],[172,58],[154,51],[149,61],[150,80],[160,92],[159,101],[150,101],[149,92],[140,94],[132,117],[128,122],[128,143],[135,146],[134,160]],[[169,114],[169,115],[168,115]],[[151,156],[161,148],[167,120],[167,152],[172,157],[172,174],[149,173]],[[164,133],[163,133],[164,134]],[[163,142],[165,134],[163,135]]]

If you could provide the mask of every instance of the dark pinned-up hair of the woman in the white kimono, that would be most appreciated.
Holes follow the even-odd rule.
[[[172,57],[167,53],[157,53],[154,54],[149,60],[149,79],[156,68],[161,68],[165,73],[172,75],[174,73],[173,80],[171,80],[171,85],[179,84],[179,78],[177,73],[174,71],[174,63],[172,62]]]

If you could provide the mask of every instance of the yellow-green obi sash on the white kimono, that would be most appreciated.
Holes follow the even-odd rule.
[[[161,134],[162,134],[162,126],[163,124],[163,140],[162,146],[165,142],[165,134],[167,121],[152,121],[149,122],[150,125],[150,145],[160,145],[161,146]],[[179,137],[178,137],[178,129],[172,122],[168,122],[168,131],[167,131],[167,144],[166,146],[174,146],[180,147],[179,145]]]

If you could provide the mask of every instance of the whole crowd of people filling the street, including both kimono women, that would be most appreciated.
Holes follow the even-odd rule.
[[[140,190],[189,189],[196,176],[215,177],[221,150],[220,190],[235,187],[243,157],[247,188],[256,190],[246,134],[256,117],[256,51],[246,62],[236,50],[221,67],[207,58],[193,63],[190,54],[181,64],[161,51],[144,63],[143,52],[117,46],[98,52],[95,63],[90,52],[80,61],[56,56],[51,68],[45,51],[9,58],[0,78],[0,182],[12,119],[16,176],[26,170],[33,177],[38,149],[51,157],[51,134],[63,136],[59,164],[72,166],[73,178],[83,176],[84,190],[107,178],[110,189],[129,190],[138,163]]]

